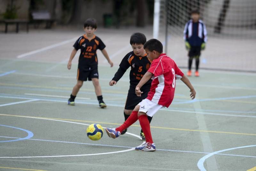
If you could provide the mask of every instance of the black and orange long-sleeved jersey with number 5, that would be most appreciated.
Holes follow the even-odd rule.
[[[148,71],[150,67],[151,61],[147,58],[147,54],[139,57],[134,54],[133,51],[127,53],[123,60],[119,65],[119,69],[117,70],[114,78],[112,80],[119,81],[119,79],[124,75],[125,71],[131,67],[130,71],[130,86],[136,87],[136,85],[140,82],[143,75]],[[142,87],[143,89],[150,89],[152,80],[148,80]]]

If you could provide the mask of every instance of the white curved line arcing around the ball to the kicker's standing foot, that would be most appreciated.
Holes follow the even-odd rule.
[[[4,114],[0,114],[2,116],[7,116],[7,115],[4,115]],[[19,116],[21,118],[32,118],[32,119],[41,119],[41,120],[53,120],[53,121],[59,121],[59,122],[66,122],[66,123],[74,123],[74,124],[79,124],[79,125],[90,125],[90,124],[85,124],[85,123],[78,123],[78,122],[71,122],[71,121],[66,121],[66,120],[55,120],[55,119],[48,119],[48,118],[39,118],[39,117],[31,117],[31,116]],[[105,127],[102,127],[102,128],[105,128]],[[135,135],[135,134],[132,134],[132,133],[128,133],[126,132],[126,134],[129,134],[129,135],[132,135],[132,136],[135,136],[135,137],[138,137],[140,138],[140,136],[138,135]],[[140,138],[141,139],[141,138]],[[143,141],[142,144],[144,144],[145,141]],[[140,145],[142,145],[140,144]],[[131,148],[131,149],[128,149],[128,150],[122,150],[122,151],[116,151],[116,152],[104,152],[104,153],[95,153],[95,154],[78,154],[78,155],[59,155],[59,156],[21,156],[21,157],[0,157],[0,159],[12,159],[12,158],[48,158],[48,157],[77,157],[77,156],[94,156],[94,155],[102,155],[102,154],[114,154],[114,153],[120,153],[120,152],[129,152],[129,151],[132,151],[134,150],[135,148]]]

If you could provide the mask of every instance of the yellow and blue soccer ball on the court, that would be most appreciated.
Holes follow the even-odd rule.
[[[93,141],[98,141],[103,136],[103,128],[100,124],[91,124],[86,129],[88,138]]]

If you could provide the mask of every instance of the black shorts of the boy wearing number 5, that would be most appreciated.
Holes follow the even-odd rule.
[[[126,109],[126,110],[133,110],[136,105],[138,105],[143,99],[148,97],[149,89],[147,91],[143,91],[143,90],[141,90],[141,91],[143,93],[141,94],[141,97],[138,97],[135,94],[135,88],[130,87],[130,89],[128,91],[128,95],[127,95],[127,99],[126,99],[126,103],[125,103],[124,109]]]

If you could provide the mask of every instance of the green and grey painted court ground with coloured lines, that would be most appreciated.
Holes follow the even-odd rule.
[[[105,132],[99,141],[90,140],[88,125],[114,128],[123,123],[129,89],[129,71],[115,86],[108,82],[131,51],[130,32],[106,32],[99,30],[98,35],[115,64],[110,68],[98,51],[106,109],[98,107],[92,82],[84,82],[75,106],[67,105],[76,83],[77,57],[71,70],[67,61],[75,37],[83,32],[0,35],[1,171],[256,170],[255,73],[200,70],[200,77],[189,78],[197,92],[194,100],[177,80],[172,105],[151,122],[156,152],[133,149],[143,143],[138,121],[115,140]]]

